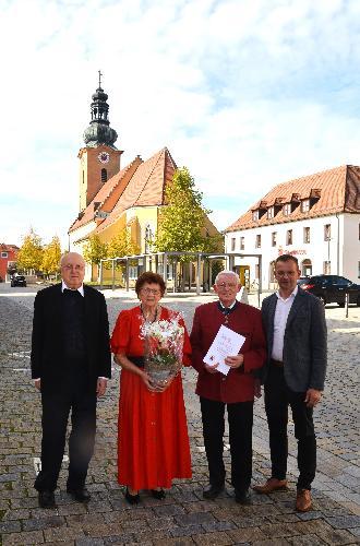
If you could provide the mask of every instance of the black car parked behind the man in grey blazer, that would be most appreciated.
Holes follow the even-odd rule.
[[[326,304],[345,306],[345,295],[349,294],[349,304],[360,307],[360,285],[339,275],[314,275],[299,278],[298,286],[310,292]]]

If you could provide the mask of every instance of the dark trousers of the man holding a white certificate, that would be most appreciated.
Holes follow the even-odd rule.
[[[231,484],[238,491],[247,490],[252,476],[253,402],[225,404],[224,402],[201,396],[200,404],[209,483],[219,487],[225,483],[223,449],[225,405],[227,405],[231,454]]]

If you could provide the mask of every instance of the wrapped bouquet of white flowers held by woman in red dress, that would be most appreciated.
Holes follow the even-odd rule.
[[[154,387],[165,387],[181,368],[184,329],[180,316],[144,322],[141,336],[145,345],[145,371]]]

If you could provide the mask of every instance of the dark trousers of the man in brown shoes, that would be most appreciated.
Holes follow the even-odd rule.
[[[316,439],[313,411],[304,403],[304,392],[287,387],[284,368],[271,366],[265,383],[265,411],[269,431],[272,477],[286,478],[288,458],[288,406],[292,412],[295,437],[298,440],[298,489],[311,489],[316,471]]]

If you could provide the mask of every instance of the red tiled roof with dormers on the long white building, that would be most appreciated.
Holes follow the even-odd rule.
[[[304,199],[313,200],[313,204],[308,212],[301,212],[300,202]],[[288,216],[285,216],[281,206],[291,202],[293,211]],[[279,206],[275,217],[268,218],[265,213],[259,221],[253,221],[253,211],[265,210],[274,204]],[[360,212],[360,167],[344,165],[279,183],[227,227],[225,232],[326,216],[337,212]]]

